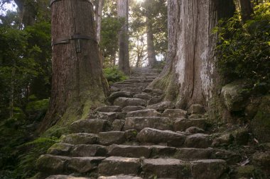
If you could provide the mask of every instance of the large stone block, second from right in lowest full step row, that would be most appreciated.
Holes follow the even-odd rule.
[[[157,178],[183,178],[183,175],[189,174],[189,168],[183,161],[171,158],[145,159],[143,171],[146,176],[154,175]]]

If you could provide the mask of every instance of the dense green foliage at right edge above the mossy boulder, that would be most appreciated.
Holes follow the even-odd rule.
[[[270,84],[270,3],[255,7],[252,20],[242,23],[239,14],[221,21],[218,67],[228,81],[249,79]]]

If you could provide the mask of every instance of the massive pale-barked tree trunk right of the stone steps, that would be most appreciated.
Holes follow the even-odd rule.
[[[178,108],[188,108],[193,103],[207,106],[218,93],[217,35],[212,29],[220,18],[233,12],[233,0],[168,1],[167,64],[163,76],[151,85],[163,88],[166,100],[176,99]]]

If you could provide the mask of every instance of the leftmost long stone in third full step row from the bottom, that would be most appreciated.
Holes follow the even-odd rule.
[[[75,133],[63,135],[60,137],[60,141],[68,144],[97,144],[98,136],[89,133]]]

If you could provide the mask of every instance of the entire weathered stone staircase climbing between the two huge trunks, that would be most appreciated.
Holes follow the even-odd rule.
[[[162,91],[147,88],[157,75],[155,69],[136,69],[114,83],[110,105],[73,122],[74,133],[38,158],[41,178],[229,178],[228,166],[239,156],[211,147],[214,137],[201,105],[175,109],[161,101]]]

